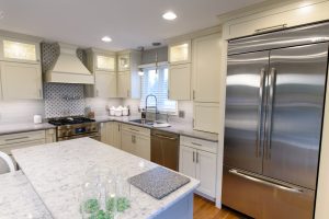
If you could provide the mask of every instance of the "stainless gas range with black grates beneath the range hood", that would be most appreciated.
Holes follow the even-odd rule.
[[[57,141],[90,137],[101,140],[99,124],[86,117],[53,118],[48,122],[57,127]]]

